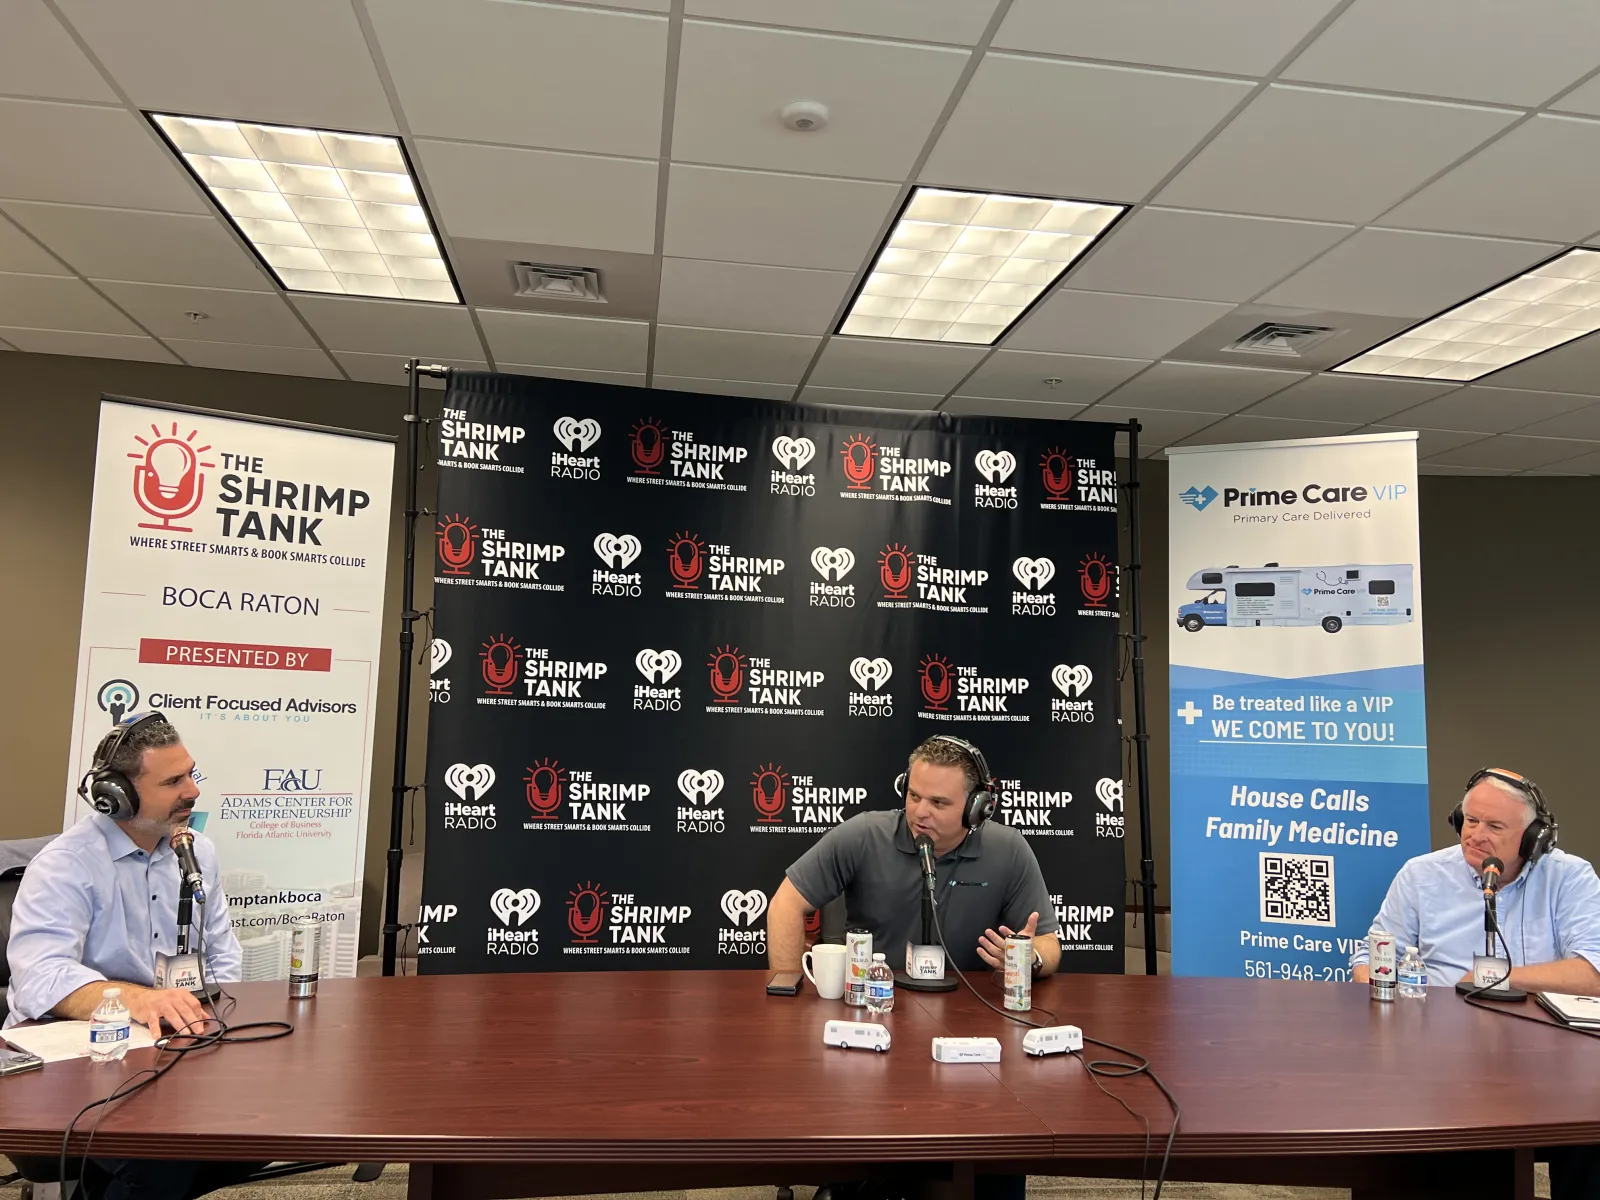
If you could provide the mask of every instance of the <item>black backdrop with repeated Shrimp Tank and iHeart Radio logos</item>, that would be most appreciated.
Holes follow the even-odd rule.
[[[954,733],[1062,970],[1122,971],[1114,435],[454,374],[421,970],[765,965],[784,869]]]

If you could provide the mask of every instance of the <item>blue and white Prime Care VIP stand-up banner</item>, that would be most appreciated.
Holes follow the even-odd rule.
[[[1173,971],[1349,979],[1429,850],[1416,434],[1166,453]]]

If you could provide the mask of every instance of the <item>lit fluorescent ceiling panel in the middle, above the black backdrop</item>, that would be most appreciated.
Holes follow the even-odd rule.
[[[992,346],[1125,211],[918,187],[838,331]]]

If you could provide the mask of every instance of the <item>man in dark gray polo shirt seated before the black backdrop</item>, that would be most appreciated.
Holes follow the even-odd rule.
[[[805,918],[837,896],[846,920],[872,931],[872,947],[898,962],[922,941],[922,866],[915,838],[933,838],[939,922],[950,958],[963,971],[1003,966],[1003,939],[1034,939],[1034,974],[1061,963],[1056,910],[1038,859],[1014,829],[984,818],[994,787],[981,778],[982,755],[939,734],[910,754],[906,806],[858,813],[830,829],[789,867],[766,909],[766,960],[798,971]]]

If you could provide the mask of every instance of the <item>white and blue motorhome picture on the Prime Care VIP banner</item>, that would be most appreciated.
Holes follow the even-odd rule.
[[[1208,566],[1186,584],[1200,600],[1179,605],[1178,624],[1206,626],[1392,626],[1413,619],[1410,563],[1344,566]]]

